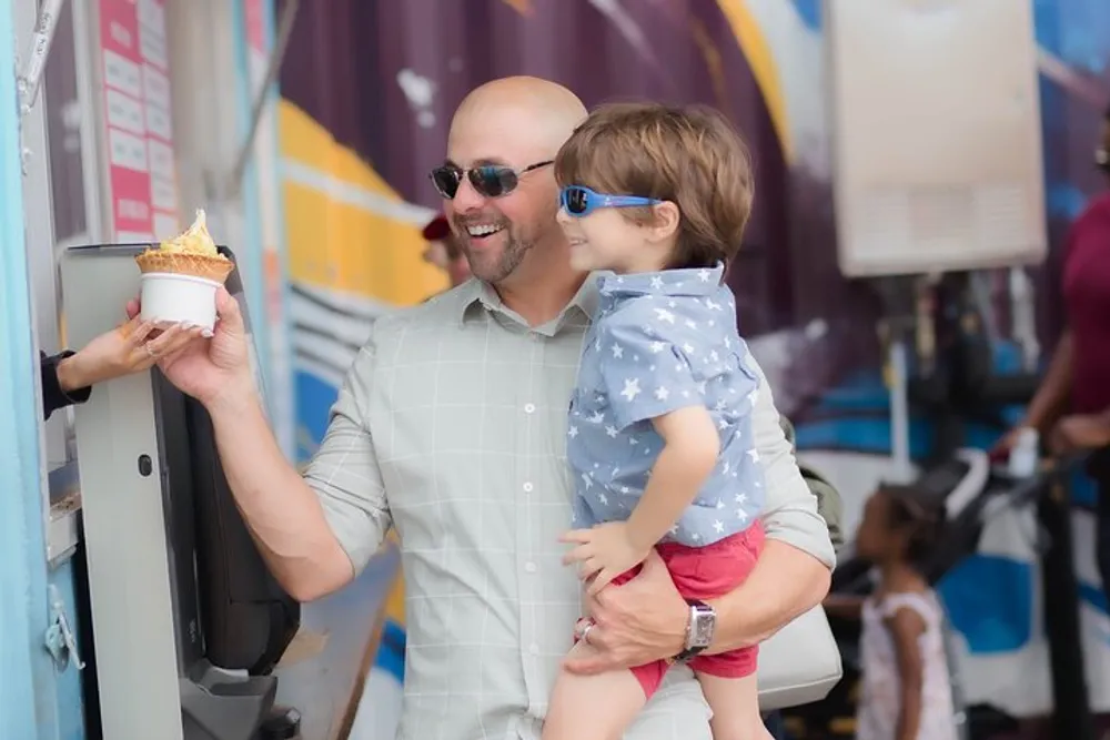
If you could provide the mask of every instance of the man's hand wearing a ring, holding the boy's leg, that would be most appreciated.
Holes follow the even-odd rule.
[[[674,658],[686,647],[689,606],[654,549],[632,580],[587,597],[594,621],[586,641],[594,650],[567,658],[573,673],[603,673]]]

